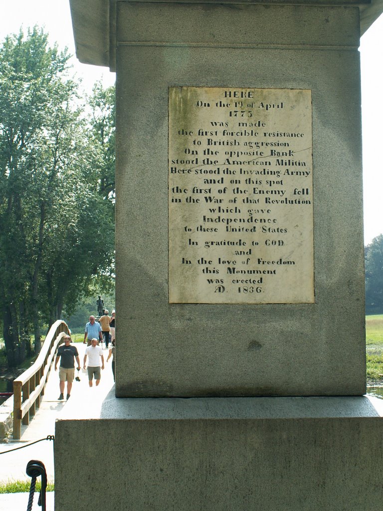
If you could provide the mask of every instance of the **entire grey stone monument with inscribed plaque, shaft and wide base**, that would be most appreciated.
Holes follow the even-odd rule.
[[[117,74],[119,399],[57,423],[56,510],[380,509],[358,45],[383,3],[70,4]]]

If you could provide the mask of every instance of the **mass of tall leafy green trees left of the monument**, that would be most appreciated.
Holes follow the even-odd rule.
[[[68,58],[36,27],[0,49],[0,301],[10,366],[23,360],[30,331],[38,352],[41,323],[58,319],[113,261],[114,205],[92,165],[97,155],[101,175],[105,144],[90,136]]]

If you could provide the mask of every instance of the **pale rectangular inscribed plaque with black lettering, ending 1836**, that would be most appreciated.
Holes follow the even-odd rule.
[[[314,302],[310,90],[170,87],[169,301]]]

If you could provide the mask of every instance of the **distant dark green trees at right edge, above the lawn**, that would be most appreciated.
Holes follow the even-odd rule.
[[[383,235],[365,247],[366,313],[383,313]]]

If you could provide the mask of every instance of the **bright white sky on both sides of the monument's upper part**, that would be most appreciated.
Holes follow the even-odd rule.
[[[0,0],[0,41],[9,33],[18,33],[20,26],[27,29],[38,25],[50,34],[50,42],[60,49],[67,47],[75,55],[75,43],[70,19],[69,0]],[[362,135],[365,244],[383,233],[383,16],[368,29],[361,39],[362,72]],[[107,67],[81,64],[72,59],[74,71],[82,79],[82,87],[90,94],[95,81],[104,86],[114,83],[115,74]]]

